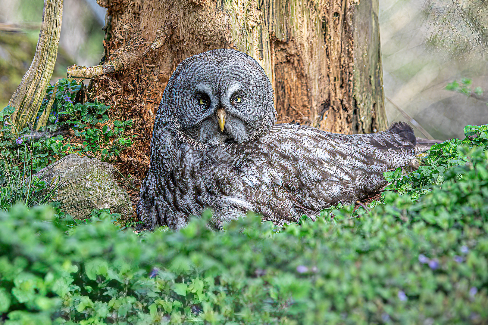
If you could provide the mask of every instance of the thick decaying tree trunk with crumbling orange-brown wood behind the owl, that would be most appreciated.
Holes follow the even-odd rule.
[[[135,152],[122,156],[128,172],[149,166],[153,118],[178,63],[216,48],[261,63],[279,122],[346,134],[386,128],[378,0],[97,1],[108,8],[106,55],[68,74],[95,76],[91,96],[135,120]]]

